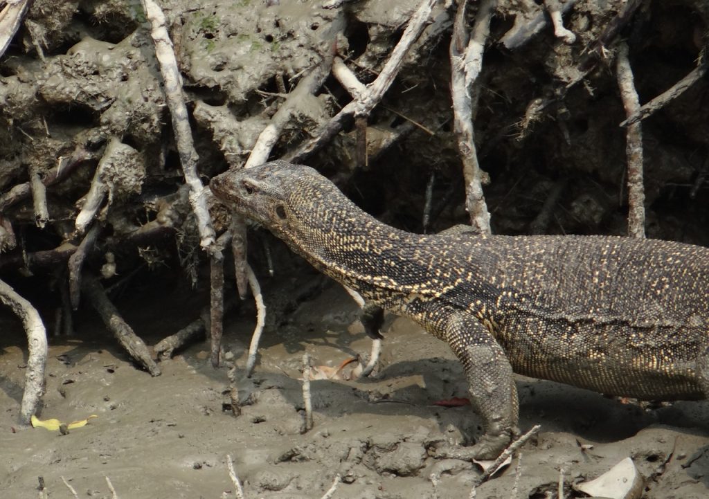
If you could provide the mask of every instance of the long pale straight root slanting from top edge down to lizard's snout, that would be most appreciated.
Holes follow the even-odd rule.
[[[211,247],[216,240],[211,216],[207,208],[206,198],[203,196],[205,186],[197,174],[198,155],[194,149],[192,131],[189,126],[187,107],[184,103],[182,82],[177,68],[172,49],[172,42],[167,33],[167,21],[160,6],[154,0],[142,0],[145,16],[150,21],[152,28],[150,34],[155,43],[155,57],[160,65],[160,74],[164,82],[165,100],[172,117],[172,130],[174,131],[177,152],[179,153],[184,179],[189,185],[189,202],[197,220],[197,227],[201,237],[200,245],[211,252]]]

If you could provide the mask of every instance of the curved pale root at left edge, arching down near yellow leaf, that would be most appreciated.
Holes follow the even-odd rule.
[[[30,418],[37,411],[45,386],[45,366],[47,365],[47,332],[37,309],[25,298],[18,295],[11,286],[0,281],[0,301],[9,306],[22,320],[27,334],[28,359],[25,374],[25,391],[20,405],[20,424],[29,425]]]

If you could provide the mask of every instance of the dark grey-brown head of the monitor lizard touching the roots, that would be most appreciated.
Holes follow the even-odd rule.
[[[286,241],[301,236],[307,224],[298,222],[327,206],[328,196],[342,196],[315,169],[281,160],[230,169],[213,177],[209,187],[230,210],[264,225]]]

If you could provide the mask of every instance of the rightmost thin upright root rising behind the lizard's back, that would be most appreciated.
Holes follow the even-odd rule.
[[[618,47],[615,72],[618,77],[620,98],[623,99],[625,115],[632,116],[640,109],[640,100],[635,91],[632,69],[625,42]],[[642,185],[642,128],[639,122],[625,130],[625,154],[627,155],[627,233],[630,237],[645,237],[645,191]]]

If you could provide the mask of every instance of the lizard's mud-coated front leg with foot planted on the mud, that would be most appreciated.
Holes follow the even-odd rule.
[[[443,339],[463,364],[470,403],[483,419],[484,434],[467,449],[439,454],[462,459],[495,459],[518,432],[519,403],[512,366],[490,332],[475,318],[454,311]]]

